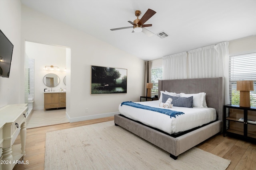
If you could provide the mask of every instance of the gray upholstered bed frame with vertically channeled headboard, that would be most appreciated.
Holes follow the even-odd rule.
[[[165,90],[186,94],[206,92],[207,106],[216,109],[218,120],[176,138],[122,115],[114,115],[114,123],[169,152],[170,157],[176,160],[179,154],[222,131],[224,78],[159,80],[158,96]]]

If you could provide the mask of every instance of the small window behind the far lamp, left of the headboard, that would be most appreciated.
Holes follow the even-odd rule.
[[[153,83],[152,96],[158,95],[158,80],[162,80],[163,68],[156,67],[151,69],[151,82]]]

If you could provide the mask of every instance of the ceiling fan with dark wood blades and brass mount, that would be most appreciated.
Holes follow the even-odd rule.
[[[144,24],[146,21],[148,21],[154,14],[156,14],[155,11],[148,9],[147,12],[144,14],[144,16],[142,16],[141,19],[139,19],[141,12],[139,10],[135,11],[135,16],[137,17],[136,20],[132,21],[128,21],[129,23],[131,23],[133,26],[130,27],[121,27],[121,28],[114,28],[114,29],[110,29],[111,31],[115,31],[115,30],[119,30],[119,29],[127,29],[127,28],[133,28],[132,33],[134,32],[143,32],[148,36],[152,36],[154,35],[154,33],[152,33],[151,31],[149,31],[148,29],[144,28],[144,27],[151,27],[152,24]]]

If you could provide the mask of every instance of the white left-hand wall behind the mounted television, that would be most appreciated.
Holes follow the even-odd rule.
[[[0,77],[0,107],[24,102],[24,61],[20,55],[20,0],[0,0],[0,29],[14,45],[10,77]],[[24,91],[24,90],[23,90]]]

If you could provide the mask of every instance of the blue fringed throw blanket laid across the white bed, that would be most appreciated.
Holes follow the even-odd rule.
[[[134,103],[134,102],[122,102],[121,106],[122,105],[127,105],[127,106],[137,107],[137,108],[140,108],[140,109],[156,111],[158,113],[163,113],[163,114],[169,115],[170,117],[176,117],[178,115],[184,114],[181,111],[174,111],[174,110],[169,110],[169,109],[160,109],[160,108],[156,108],[156,107],[145,106],[145,105]]]

